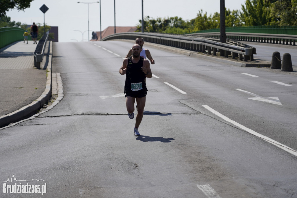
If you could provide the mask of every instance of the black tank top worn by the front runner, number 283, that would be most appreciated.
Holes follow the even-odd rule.
[[[143,57],[140,57],[140,60],[137,63],[133,63],[132,56],[128,58],[125,93],[132,92],[132,83],[142,83],[142,89],[147,91],[146,82],[144,81],[145,74],[141,69],[141,67],[143,66],[143,59]],[[141,91],[142,89],[140,89],[139,91]]]

